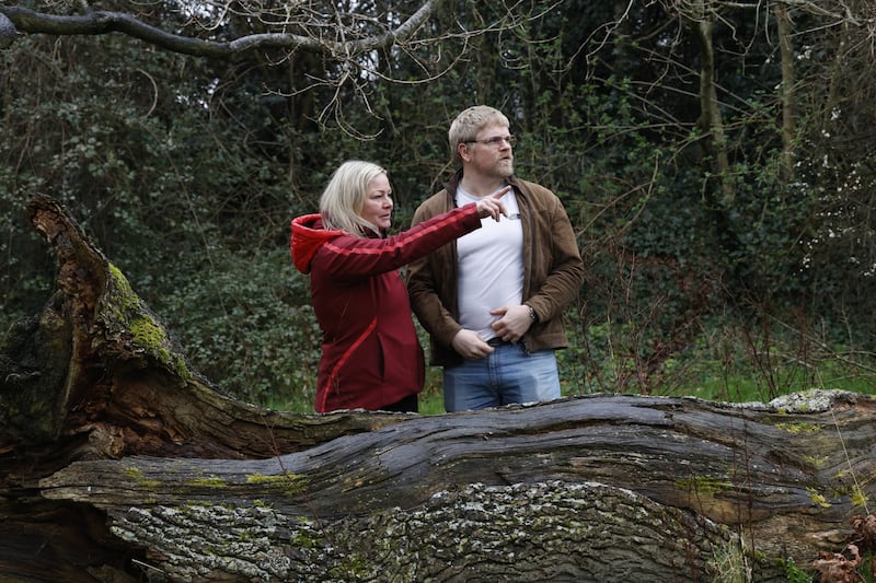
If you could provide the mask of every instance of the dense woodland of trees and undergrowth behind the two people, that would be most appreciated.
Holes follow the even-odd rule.
[[[404,42],[330,46],[427,4]],[[452,118],[488,104],[520,139],[517,174],[562,198],[585,258],[565,395],[874,392],[871,0],[91,8],[193,38],[312,42],[208,58],[43,34],[0,50],[3,330],[54,288],[25,209],[42,193],[221,390],[312,411],[321,339],[289,221],[365,159],[389,170],[404,229],[453,171]],[[430,370],[424,412],[439,394]]]

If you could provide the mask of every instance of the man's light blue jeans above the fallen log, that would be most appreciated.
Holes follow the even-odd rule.
[[[560,398],[553,350],[499,345],[492,354],[445,368],[445,409],[464,411]]]

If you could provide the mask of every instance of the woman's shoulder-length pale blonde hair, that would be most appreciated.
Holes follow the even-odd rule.
[[[348,160],[332,174],[320,197],[320,214],[326,229],[364,236],[366,230],[380,233],[377,225],[362,219],[368,184],[387,171],[371,162]]]

